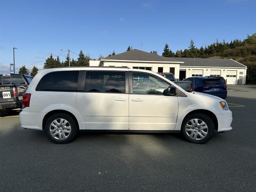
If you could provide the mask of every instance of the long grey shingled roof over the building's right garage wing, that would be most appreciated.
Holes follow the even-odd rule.
[[[192,67],[194,66],[194,58],[176,58],[172,57],[172,59],[177,59],[183,61],[184,63],[180,64],[180,67]],[[246,68],[245,65],[236,62],[232,59],[203,59],[203,58],[195,58],[195,66],[196,67],[229,67],[229,68]]]

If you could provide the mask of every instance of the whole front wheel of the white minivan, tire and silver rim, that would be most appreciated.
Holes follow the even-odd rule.
[[[194,113],[185,117],[181,125],[181,132],[186,140],[203,144],[212,138],[214,124],[212,119],[202,113]]]

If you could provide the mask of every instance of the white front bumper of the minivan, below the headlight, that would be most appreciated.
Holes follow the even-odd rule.
[[[218,130],[217,132],[222,132],[222,131],[229,131],[232,129],[231,123],[232,123],[232,111],[228,110],[223,110],[224,114],[216,115],[218,119]]]

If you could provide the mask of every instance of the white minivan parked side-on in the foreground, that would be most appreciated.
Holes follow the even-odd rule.
[[[231,130],[227,102],[185,91],[148,70],[67,67],[41,70],[23,96],[21,127],[45,130],[54,143],[88,132],[181,132],[205,143]]]

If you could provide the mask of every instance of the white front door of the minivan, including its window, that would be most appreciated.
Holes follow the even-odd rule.
[[[132,72],[130,76],[129,129],[174,130],[178,97],[168,96],[167,88],[170,85],[148,73]]]

